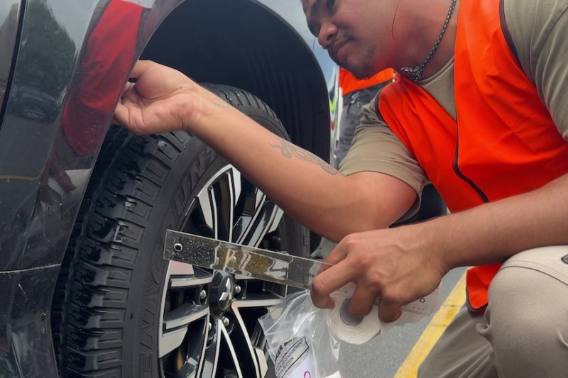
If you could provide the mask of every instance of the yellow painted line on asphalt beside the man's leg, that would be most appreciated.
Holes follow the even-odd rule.
[[[466,299],[465,286],[466,275],[464,273],[437,313],[432,317],[420,338],[418,338],[413,350],[410,350],[406,360],[400,365],[395,378],[415,378],[417,376],[418,366],[420,366],[422,360],[425,359],[440,335],[442,335],[449,322],[456,316],[459,308],[464,305]]]

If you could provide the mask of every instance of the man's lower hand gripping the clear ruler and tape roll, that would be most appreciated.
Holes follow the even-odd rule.
[[[346,236],[326,260],[334,266],[315,277],[315,306],[333,308],[329,294],[354,282],[357,289],[349,312],[363,317],[380,297],[378,317],[392,322],[400,316],[401,306],[432,293],[447,272],[437,251],[422,248],[416,228],[420,225]]]

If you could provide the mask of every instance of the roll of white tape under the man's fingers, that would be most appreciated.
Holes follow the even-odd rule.
[[[335,307],[329,311],[329,328],[334,335],[346,343],[360,345],[381,334],[381,321],[378,320],[378,307],[364,318],[354,318],[347,312],[349,299],[336,298]]]

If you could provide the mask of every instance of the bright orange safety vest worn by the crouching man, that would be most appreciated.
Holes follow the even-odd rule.
[[[457,122],[398,74],[379,94],[379,113],[452,212],[532,191],[568,173],[568,143],[508,44],[502,2],[461,0],[454,55]],[[470,311],[484,311],[500,266],[468,269]]]

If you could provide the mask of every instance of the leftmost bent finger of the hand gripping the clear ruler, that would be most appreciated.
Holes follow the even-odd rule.
[[[333,301],[329,300],[329,294],[341,289],[354,279],[354,272],[349,265],[344,262],[330,267],[320,274],[317,274],[312,282],[312,301],[319,308],[333,308]]]

